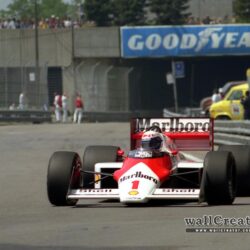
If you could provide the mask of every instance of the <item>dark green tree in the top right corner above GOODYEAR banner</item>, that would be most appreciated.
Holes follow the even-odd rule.
[[[250,1],[235,0],[233,2],[233,11],[236,16],[236,22],[250,23]]]

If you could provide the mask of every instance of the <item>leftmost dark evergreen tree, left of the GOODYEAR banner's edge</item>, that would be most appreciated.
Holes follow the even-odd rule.
[[[89,21],[97,26],[110,26],[113,19],[111,0],[85,0],[83,9]]]

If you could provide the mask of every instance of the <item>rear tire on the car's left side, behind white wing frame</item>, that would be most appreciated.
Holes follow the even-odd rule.
[[[117,162],[118,150],[116,146],[88,146],[83,154],[83,170],[94,172],[96,163]],[[84,188],[94,188],[94,173],[83,173],[82,180]]]

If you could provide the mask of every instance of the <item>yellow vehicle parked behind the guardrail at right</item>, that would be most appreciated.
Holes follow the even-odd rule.
[[[241,98],[246,95],[248,88],[248,83],[232,87],[221,101],[213,103],[210,106],[210,117],[223,120],[243,119],[244,109],[241,104]]]

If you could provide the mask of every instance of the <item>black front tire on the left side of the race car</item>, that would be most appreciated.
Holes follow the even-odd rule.
[[[58,151],[50,160],[47,172],[47,194],[55,206],[74,206],[78,200],[67,199],[69,189],[80,187],[81,158],[75,152]]]

